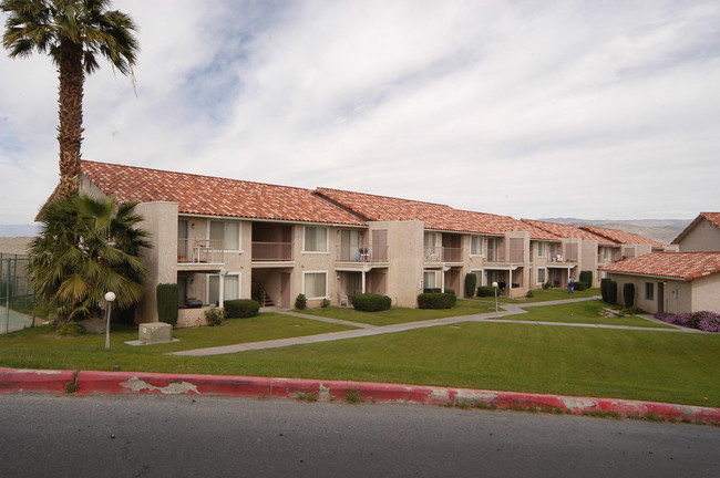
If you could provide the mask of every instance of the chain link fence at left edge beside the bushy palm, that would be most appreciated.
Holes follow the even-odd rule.
[[[28,256],[0,252],[0,334],[35,323],[35,297],[28,281]]]

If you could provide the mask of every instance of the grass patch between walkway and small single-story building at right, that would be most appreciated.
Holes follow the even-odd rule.
[[[589,323],[604,325],[630,325],[655,329],[673,329],[665,323],[650,322],[636,315],[606,316],[603,309],[608,305],[599,300],[575,302],[559,305],[531,306],[527,313],[510,315],[503,319],[516,319],[537,322]]]

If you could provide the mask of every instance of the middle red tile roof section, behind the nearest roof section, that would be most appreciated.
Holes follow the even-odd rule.
[[[331,188],[317,188],[315,193],[370,221],[419,220],[424,222],[425,229],[433,230],[497,236],[507,231],[528,231],[533,239],[559,240],[557,236],[508,216],[465,211],[433,202]]]

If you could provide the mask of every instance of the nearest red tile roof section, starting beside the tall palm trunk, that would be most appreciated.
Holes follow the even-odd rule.
[[[82,173],[121,202],[177,202],[181,214],[366,226],[309,189],[82,162]]]

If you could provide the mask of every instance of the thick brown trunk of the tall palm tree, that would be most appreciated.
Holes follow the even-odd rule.
[[[60,44],[60,95],[58,142],[60,143],[60,197],[80,189],[80,144],[82,143],[82,98],[85,74],[83,49],[70,39]]]

